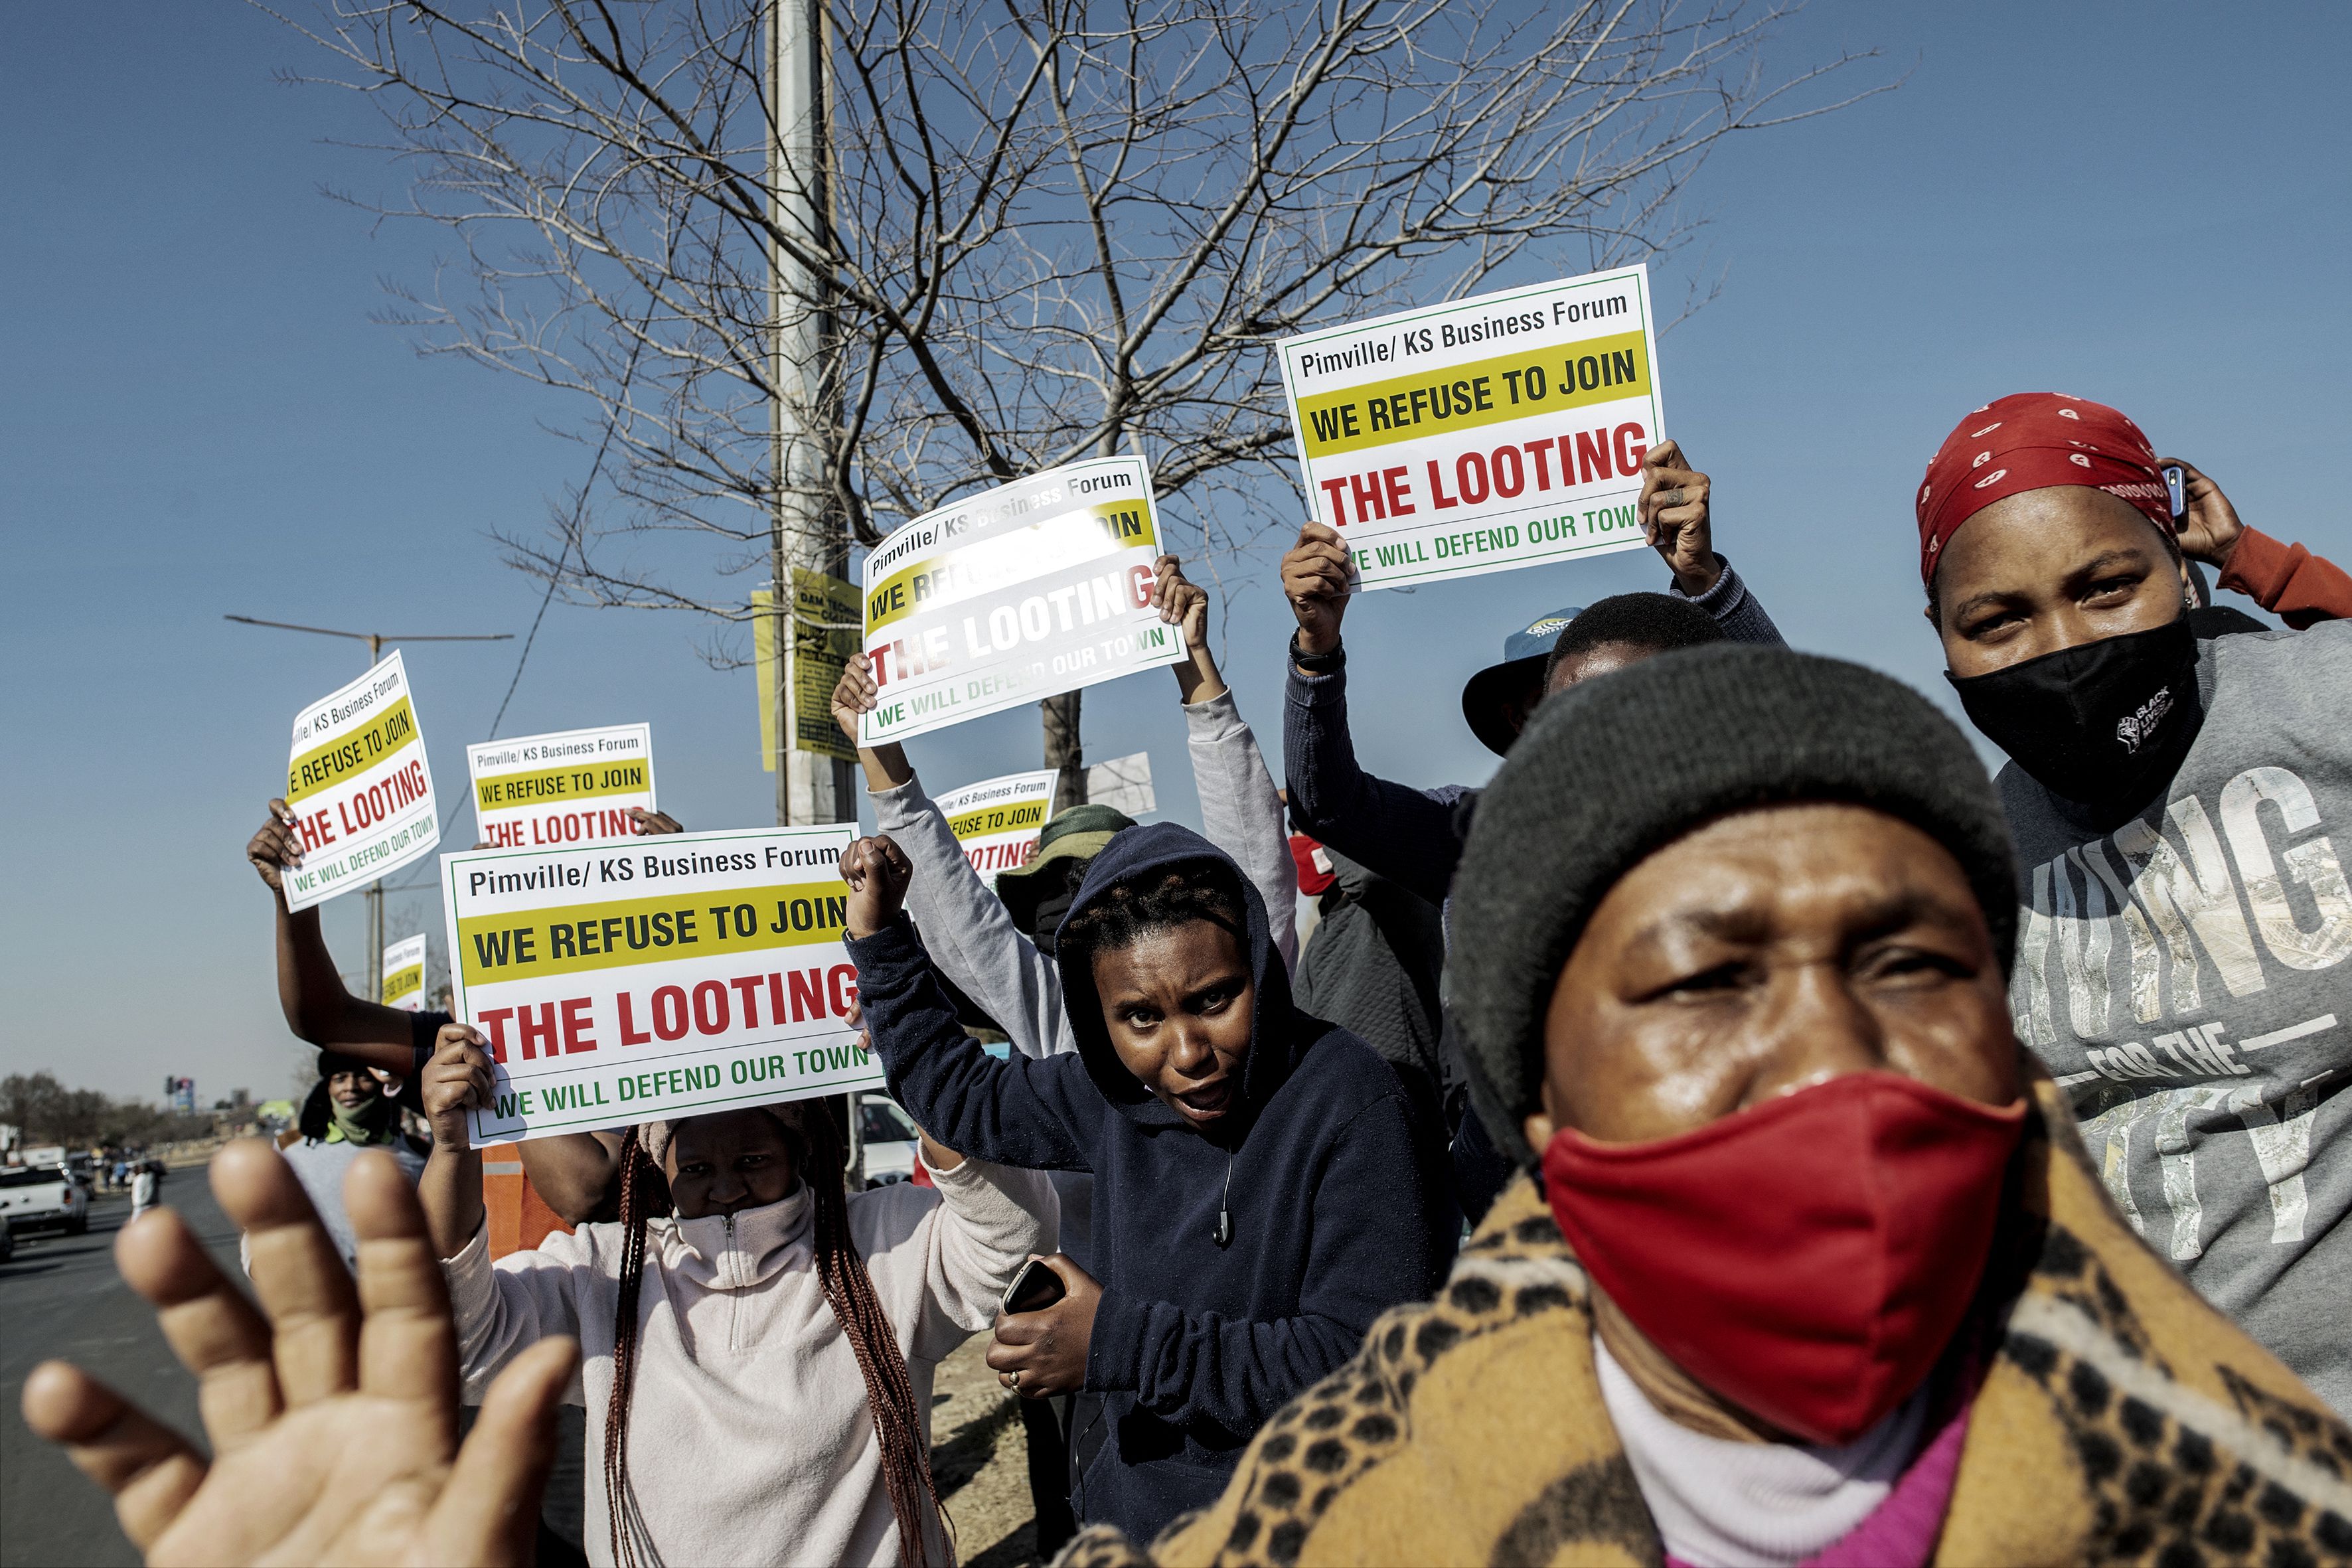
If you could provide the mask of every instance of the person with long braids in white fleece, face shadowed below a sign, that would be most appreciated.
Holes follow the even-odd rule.
[[[581,1342],[593,1563],[948,1563],[931,1371],[995,1321],[1054,1192],[922,1140],[929,1187],[844,1192],[823,1100],[647,1121],[621,1143],[621,1220],[489,1260],[466,1110],[480,1034],[426,1067],[423,1199],[470,1394],[550,1335]],[[652,1178],[659,1173],[661,1182]],[[668,1213],[652,1213],[666,1194]]]

